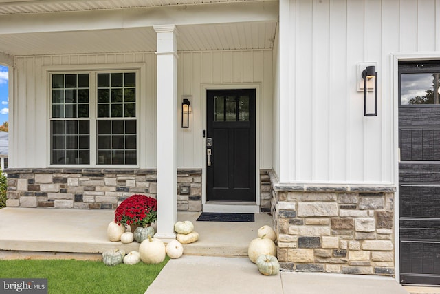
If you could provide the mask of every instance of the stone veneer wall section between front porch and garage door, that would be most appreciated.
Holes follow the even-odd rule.
[[[395,274],[394,187],[281,185],[269,174],[282,269]]]

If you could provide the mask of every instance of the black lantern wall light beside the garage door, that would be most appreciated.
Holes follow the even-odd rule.
[[[377,72],[375,66],[362,71],[364,78],[364,116],[377,116]]]

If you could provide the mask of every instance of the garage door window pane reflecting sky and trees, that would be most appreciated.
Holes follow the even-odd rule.
[[[439,104],[440,73],[401,74],[401,105]]]

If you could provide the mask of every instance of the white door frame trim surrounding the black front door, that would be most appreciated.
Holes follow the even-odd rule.
[[[260,212],[260,103],[261,83],[203,83],[201,84],[201,125],[206,131],[206,90],[231,90],[231,89],[255,89],[255,202],[210,202],[206,201],[206,137],[202,141],[203,167],[201,169],[202,211],[205,212],[228,212],[228,213],[259,213]]]

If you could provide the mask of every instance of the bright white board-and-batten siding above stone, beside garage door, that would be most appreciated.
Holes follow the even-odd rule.
[[[278,32],[279,180],[393,184],[397,96],[391,54],[438,53],[440,1],[281,0]],[[377,117],[364,117],[363,92],[357,90],[358,63],[369,62],[377,64],[379,76]]]

